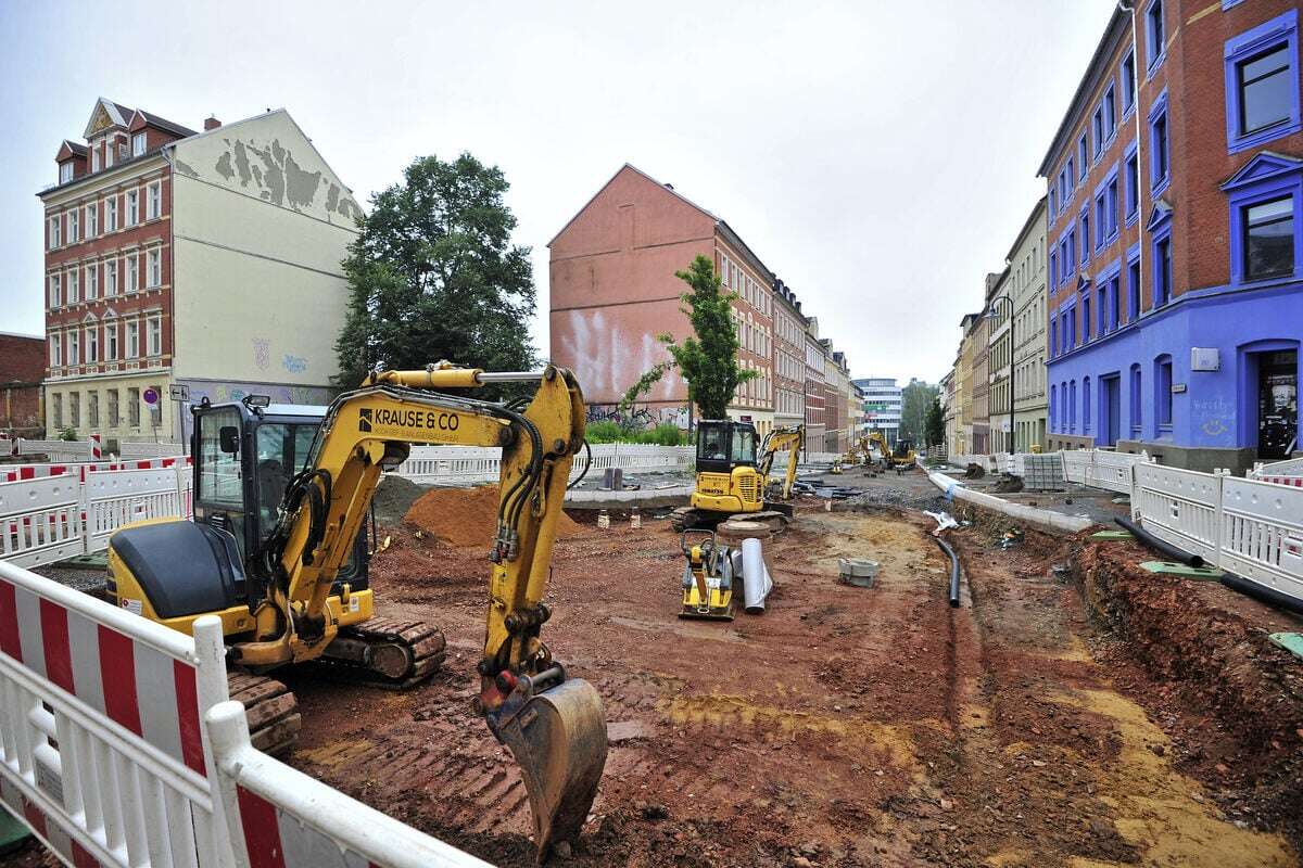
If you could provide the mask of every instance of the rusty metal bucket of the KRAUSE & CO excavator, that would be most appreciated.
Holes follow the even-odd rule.
[[[593,807],[606,766],[606,714],[582,678],[532,696],[528,685],[521,687],[490,726],[520,765],[542,864],[555,842],[579,837]]]

